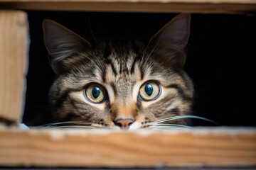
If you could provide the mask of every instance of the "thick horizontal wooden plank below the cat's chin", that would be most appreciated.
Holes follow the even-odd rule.
[[[255,128],[86,131],[0,129],[0,166],[256,166]]]

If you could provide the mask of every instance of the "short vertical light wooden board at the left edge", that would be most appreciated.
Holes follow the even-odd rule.
[[[0,120],[18,123],[23,111],[28,23],[22,11],[0,11]]]

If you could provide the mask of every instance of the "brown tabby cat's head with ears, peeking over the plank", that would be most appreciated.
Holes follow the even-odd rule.
[[[57,75],[49,93],[55,121],[137,130],[187,115],[193,98],[193,85],[183,71],[189,25],[190,16],[180,14],[146,45],[138,40],[92,45],[60,24],[44,21]],[[164,123],[186,124],[182,119]]]

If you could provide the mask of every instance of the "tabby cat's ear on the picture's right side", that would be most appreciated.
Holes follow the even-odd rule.
[[[180,69],[186,62],[186,44],[190,31],[190,14],[179,14],[150,40],[154,57],[167,67]]]

